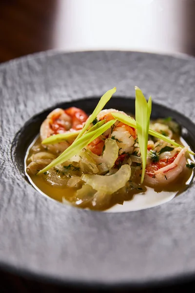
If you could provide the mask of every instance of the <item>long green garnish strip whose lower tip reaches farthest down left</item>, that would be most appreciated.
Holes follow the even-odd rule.
[[[63,151],[61,155],[54,161],[52,161],[47,167],[43,168],[39,171],[38,174],[44,173],[47,170],[49,170],[52,167],[56,167],[59,164],[62,164],[63,162],[69,160],[76,154],[78,154],[85,146],[87,146],[90,142],[92,142],[94,139],[96,139],[100,134],[105,132],[108,128],[110,128],[116,120],[111,120],[104,125],[100,126],[98,129],[85,133],[82,137],[80,137],[77,141],[74,142],[71,146],[69,146],[67,149]]]

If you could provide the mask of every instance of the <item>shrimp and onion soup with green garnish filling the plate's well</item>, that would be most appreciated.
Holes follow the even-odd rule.
[[[84,209],[127,211],[169,201],[186,188],[194,167],[180,126],[171,118],[150,123],[144,165],[137,129],[123,120],[129,117],[101,110],[77,139],[88,115],[75,107],[52,111],[27,152],[31,182],[51,198]]]

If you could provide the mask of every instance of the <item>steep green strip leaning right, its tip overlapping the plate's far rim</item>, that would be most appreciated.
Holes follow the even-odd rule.
[[[116,92],[117,88],[113,87],[112,89],[109,89],[99,100],[98,105],[96,106],[95,110],[93,111],[93,113],[90,115],[90,117],[87,119],[84,127],[82,128],[82,130],[80,131],[80,133],[78,134],[78,137],[76,138],[75,141],[77,141],[82,135],[83,133],[87,130],[87,128],[89,127],[89,125],[94,121],[94,119],[97,117],[97,115],[99,114],[99,112],[103,109],[103,107],[108,103],[108,101],[112,98],[112,95]]]

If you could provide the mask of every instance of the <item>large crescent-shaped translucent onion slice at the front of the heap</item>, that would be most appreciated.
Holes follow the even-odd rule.
[[[127,181],[131,176],[131,168],[129,165],[123,165],[113,175],[102,176],[102,175],[90,175],[84,174],[81,179],[86,184],[90,185],[93,189],[105,193],[112,194],[118,189],[126,185]]]

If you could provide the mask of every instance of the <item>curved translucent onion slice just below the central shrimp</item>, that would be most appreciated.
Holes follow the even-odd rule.
[[[99,173],[103,173],[108,171],[115,165],[115,162],[118,157],[118,145],[117,142],[111,138],[105,140],[105,149],[103,151],[102,156],[98,156],[91,152],[89,149],[86,150],[96,162]]]

